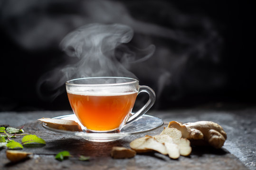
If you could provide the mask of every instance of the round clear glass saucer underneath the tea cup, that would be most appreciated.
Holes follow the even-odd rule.
[[[58,117],[55,117],[52,119],[74,120],[80,124],[80,122],[76,118],[75,114],[58,116]],[[42,126],[48,130],[62,133],[62,134],[80,136],[88,141],[94,141],[94,142],[114,141],[117,139],[121,139],[124,136],[131,136],[131,135],[135,135],[135,134],[149,132],[158,127],[161,127],[162,125],[163,125],[162,119],[156,118],[156,117],[150,116],[150,115],[142,115],[137,120],[129,123],[128,125],[125,125],[119,133],[86,133],[86,128],[83,125],[81,125],[81,127],[83,129],[82,132],[76,132],[76,131],[74,132],[74,131],[59,130],[59,129],[47,127],[47,125],[45,123],[42,123]]]

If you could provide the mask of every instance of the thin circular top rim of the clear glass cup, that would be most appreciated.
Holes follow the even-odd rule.
[[[70,83],[71,81],[76,81],[76,80],[82,80],[82,79],[99,79],[99,78],[114,78],[114,79],[129,79],[133,80],[131,82],[123,82],[123,83],[108,83],[108,84],[76,84],[76,83]],[[100,77],[84,77],[84,78],[75,78],[71,80],[66,81],[66,85],[73,85],[73,86],[115,86],[115,85],[131,85],[134,83],[138,83],[139,80],[135,78],[130,78],[130,77],[115,77],[115,76],[100,76]]]

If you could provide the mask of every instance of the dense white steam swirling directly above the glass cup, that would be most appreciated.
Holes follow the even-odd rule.
[[[133,38],[133,29],[121,24],[88,24],[66,35],[60,47],[76,63],[56,68],[38,81],[38,94],[43,99],[55,99],[63,89],[59,88],[67,80],[95,76],[136,76],[128,71],[129,63],[150,58],[155,50],[153,45],[143,50],[142,58],[135,60],[135,53],[123,43]],[[122,53],[115,53],[121,47]],[[47,92],[43,89],[47,89]],[[51,91],[48,91],[51,90]]]

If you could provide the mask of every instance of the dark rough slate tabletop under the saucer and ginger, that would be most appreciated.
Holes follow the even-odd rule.
[[[146,134],[124,137],[113,142],[90,142],[77,136],[59,134],[44,129],[37,119],[72,114],[71,111],[0,112],[0,125],[21,127],[26,133],[35,134],[46,141],[46,145],[27,146],[22,151],[32,152],[33,157],[19,163],[10,163],[6,148],[0,150],[1,170],[256,170],[256,106],[223,106],[221,103],[187,109],[151,110],[149,115],[164,120],[183,123],[209,120],[220,124],[228,134],[221,149],[192,147],[188,157],[172,160],[160,153],[137,154],[131,159],[113,159],[113,146],[129,147],[129,143],[144,135],[159,134],[160,127]],[[20,141],[21,138],[17,138]],[[73,157],[64,161],[54,159],[60,151],[69,151]],[[79,161],[78,156],[90,156],[89,161]]]

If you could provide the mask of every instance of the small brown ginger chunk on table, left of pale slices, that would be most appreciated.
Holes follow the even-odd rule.
[[[133,158],[136,152],[126,147],[114,146],[111,150],[111,156],[115,159]]]

